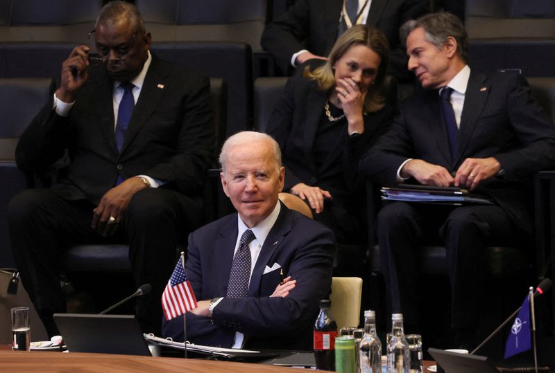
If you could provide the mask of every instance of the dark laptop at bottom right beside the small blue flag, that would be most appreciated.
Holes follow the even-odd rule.
[[[430,347],[428,352],[448,373],[498,373],[486,356],[459,354]]]

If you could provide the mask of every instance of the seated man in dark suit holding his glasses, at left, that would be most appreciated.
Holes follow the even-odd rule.
[[[176,246],[203,224],[205,169],[212,164],[210,82],[159,60],[137,8],[111,1],[94,28],[100,66],[89,48],[62,63],[60,88],[24,131],[16,161],[40,172],[67,151],[51,189],[26,190],[10,202],[17,268],[50,336],[53,312],[65,311],[58,262],[78,243],[128,242],[144,331],[160,334],[160,296]],[[184,244],[185,242],[183,242]]]

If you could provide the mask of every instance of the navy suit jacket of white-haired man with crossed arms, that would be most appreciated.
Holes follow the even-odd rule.
[[[186,271],[197,300],[225,297],[237,235],[237,214],[189,235]],[[249,337],[246,347],[311,349],[318,302],[332,284],[333,240],[329,229],[282,204],[255,264],[248,298],[223,298],[212,320],[187,313],[187,340],[230,347],[240,331]],[[297,280],[287,298],[269,298],[280,283],[280,270],[264,274],[264,269],[275,264]],[[183,340],[182,317],[164,320],[162,329],[165,337]]]

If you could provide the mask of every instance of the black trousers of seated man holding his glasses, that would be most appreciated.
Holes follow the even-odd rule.
[[[17,194],[8,206],[10,241],[22,282],[50,336],[58,334],[52,313],[65,312],[59,263],[74,244],[125,243],[137,286],[152,285],[137,298],[137,319],[144,332],[160,335],[162,291],[176,265],[176,248],[203,223],[200,199],[162,188],[137,192],[130,201],[117,235],[101,237],[92,230],[92,203],[68,201],[53,190],[31,189]]]

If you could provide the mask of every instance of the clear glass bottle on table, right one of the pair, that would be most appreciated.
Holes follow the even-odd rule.
[[[391,316],[391,339],[387,344],[387,373],[410,373],[411,352],[407,338],[404,338],[403,314]]]

